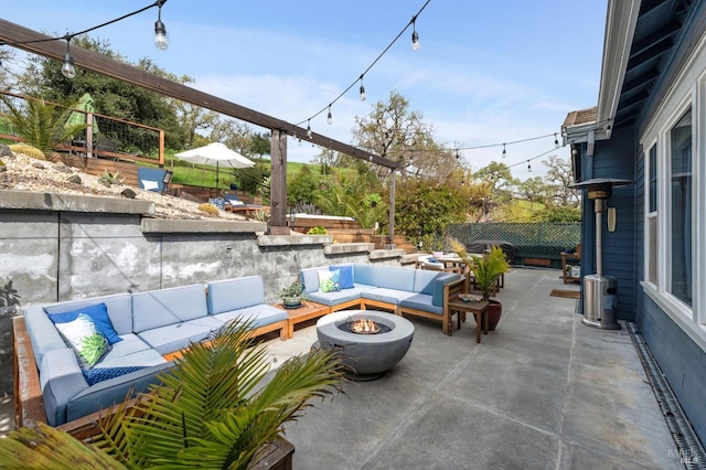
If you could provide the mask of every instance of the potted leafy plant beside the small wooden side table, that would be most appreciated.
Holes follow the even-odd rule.
[[[488,329],[494,330],[500,321],[503,306],[499,300],[491,300],[490,296],[498,285],[500,276],[510,270],[510,264],[505,259],[505,253],[499,246],[492,246],[482,256],[469,255],[466,247],[457,239],[451,241],[451,247],[463,259],[466,266],[473,275],[475,285],[483,295],[488,306]],[[468,276],[468,273],[467,273]]]

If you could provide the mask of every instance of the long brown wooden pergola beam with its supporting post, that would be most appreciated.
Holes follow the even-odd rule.
[[[0,19],[0,41],[12,47],[21,49],[56,61],[63,61],[64,54],[66,53],[66,43],[64,41],[52,40],[51,36],[2,19]],[[311,138],[309,138],[307,136],[307,129],[297,125],[236,105],[235,103],[227,102],[218,98],[217,96],[160,77],[156,74],[145,72],[140,68],[124,64],[96,52],[71,45],[71,55],[74,58],[74,65],[77,67],[96,72],[110,78],[119,79],[171,98],[191,103],[193,105],[269,129],[272,135],[270,156],[272,159],[277,158],[279,160],[277,164],[272,161],[271,182],[276,188],[278,188],[278,190],[276,191],[277,200],[272,200],[272,207],[270,210],[274,211],[270,212],[271,226],[286,226],[286,136],[288,135],[392,170],[399,168],[399,163],[393,160],[385,159],[375,153],[371,153],[317,132],[311,132]],[[285,142],[285,151],[282,151],[282,141]],[[395,172],[393,171],[393,174]],[[391,243],[393,243],[393,235],[394,232],[391,226]]]

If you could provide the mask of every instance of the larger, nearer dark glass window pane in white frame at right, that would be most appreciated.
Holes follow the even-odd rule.
[[[671,282],[673,296],[692,306],[692,109],[670,130],[670,193],[672,227]]]

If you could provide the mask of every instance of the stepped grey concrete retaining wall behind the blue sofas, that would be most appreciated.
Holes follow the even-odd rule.
[[[89,209],[99,212],[90,212]],[[268,302],[299,269],[399,266],[402,250],[269,236],[259,222],[149,218],[151,203],[0,191],[0,396],[12,391],[11,316],[25,306],[259,275]]]

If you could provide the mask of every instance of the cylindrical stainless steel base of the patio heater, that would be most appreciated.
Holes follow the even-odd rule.
[[[584,276],[584,324],[620,330],[617,319],[618,279],[612,276]]]

